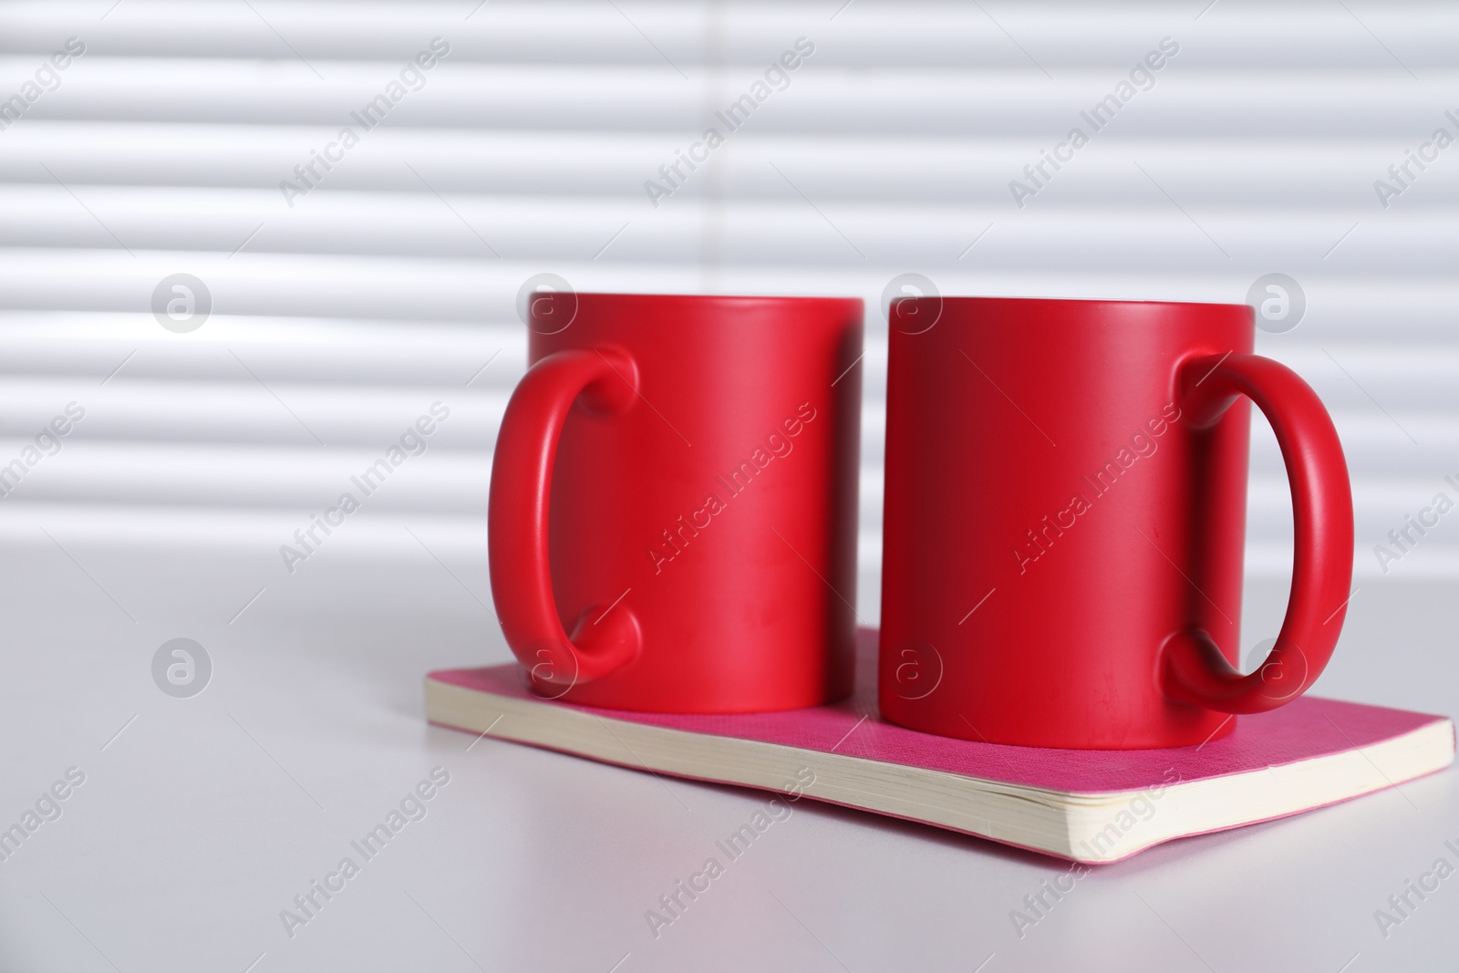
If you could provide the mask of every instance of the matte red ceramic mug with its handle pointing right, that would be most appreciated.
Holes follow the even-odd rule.
[[[1242,305],[909,298],[890,315],[880,705],[913,729],[1199,745],[1332,655],[1352,496],[1312,388]],[[1239,656],[1249,403],[1293,489],[1287,617]]]

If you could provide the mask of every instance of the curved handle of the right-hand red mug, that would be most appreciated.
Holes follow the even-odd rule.
[[[1287,616],[1261,668],[1242,675],[1210,635],[1177,632],[1161,651],[1161,683],[1170,696],[1221,713],[1277,709],[1328,665],[1351,597],[1352,489],[1342,443],[1312,387],[1268,357],[1198,357],[1183,363],[1177,384],[1182,410],[1198,429],[1214,425],[1237,395],[1266,416],[1291,481],[1296,550]]]

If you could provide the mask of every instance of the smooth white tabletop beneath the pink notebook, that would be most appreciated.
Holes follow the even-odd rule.
[[[1459,963],[1459,877],[1386,939],[1373,916],[1434,859],[1459,865],[1455,773],[1100,868],[1021,939],[1010,912],[1059,862],[805,801],[655,939],[645,910],[765,796],[426,726],[427,670],[508,658],[484,557],[341,544],[287,576],[263,546],[53,534],[64,551],[38,532],[6,541],[0,827],[69,767],[86,776],[0,862],[3,970]],[[1274,621],[1284,595],[1252,582],[1247,619]],[[1456,630],[1452,584],[1369,581],[1319,691],[1456,713]],[[178,636],[214,665],[191,699],[150,674]],[[433,767],[449,783],[426,815],[365,861],[352,840]],[[344,856],[359,874],[314,893],[290,938],[280,910]]]

